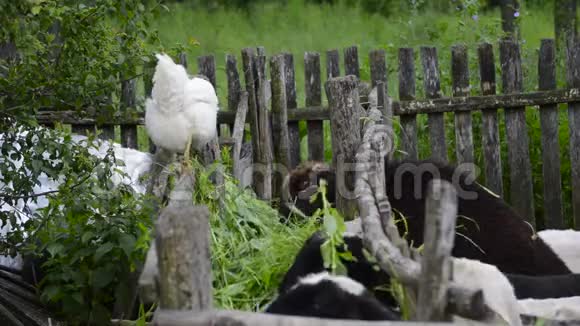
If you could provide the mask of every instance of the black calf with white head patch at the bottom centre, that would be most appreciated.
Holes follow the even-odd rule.
[[[330,319],[399,319],[359,282],[326,271],[299,278],[266,312]]]

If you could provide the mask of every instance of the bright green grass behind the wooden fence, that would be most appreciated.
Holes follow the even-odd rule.
[[[552,8],[524,8],[521,11],[522,57],[525,91],[537,89],[537,50],[543,38],[553,37]],[[187,5],[174,5],[170,12],[162,14],[154,23],[164,44],[182,43],[189,45],[190,71],[196,72],[195,58],[213,54],[217,64],[218,95],[221,103],[226,102],[225,56],[234,54],[241,65],[240,51],[244,47],[264,46],[268,55],[291,52],[295,57],[296,84],[299,106],[304,105],[303,54],[317,51],[322,54],[322,73],[325,71],[325,51],[359,46],[361,77],[369,78],[368,53],[371,49],[383,48],[387,51],[388,88],[391,96],[397,98],[397,49],[415,48],[417,71],[417,96],[423,96],[422,69],[419,61],[419,46],[436,46],[439,52],[441,86],[443,93],[451,93],[450,53],[451,46],[458,43],[469,47],[470,78],[472,93],[479,93],[479,69],[476,48],[480,42],[494,44],[496,62],[499,58],[497,41],[501,27],[498,11],[480,13],[477,17],[465,13],[418,12],[388,19],[364,13],[361,10],[342,5],[319,6],[301,0],[290,0],[286,5],[266,5],[254,8],[251,14],[236,10],[217,9],[205,11]],[[199,43],[198,45],[192,45]],[[497,66],[498,91],[501,90],[501,71]],[[344,72],[344,68],[341,67]],[[562,64],[558,70],[558,85],[565,86]],[[243,77],[242,77],[243,78]],[[323,79],[324,80],[324,79]],[[324,92],[323,92],[324,96]],[[420,157],[430,153],[426,117],[420,116],[419,150]],[[527,110],[530,136],[530,153],[534,177],[534,200],[538,225],[543,226],[542,210],[542,166],[539,113]],[[476,163],[483,167],[481,152],[479,113],[474,114],[474,141]],[[454,160],[455,136],[453,116],[446,114],[448,126],[447,140],[449,157]],[[561,107],[560,144],[562,153],[562,173],[565,216],[571,216],[570,208],[570,164],[568,151],[568,123],[565,106]],[[501,115],[502,160],[504,175],[507,176],[507,146],[505,126]],[[302,126],[302,135],[306,128]],[[325,128],[326,158],[331,158],[330,130]],[[306,137],[302,138],[302,159],[307,156]],[[509,193],[509,180],[504,178],[504,193]],[[571,220],[567,220],[571,225]]]

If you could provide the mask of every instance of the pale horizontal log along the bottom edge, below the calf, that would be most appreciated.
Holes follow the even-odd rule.
[[[462,321],[465,325],[485,325],[475,321]],[[452,323],[428,323],[408,321],[368,321],[322,319],[301,316],[285,316],[246,311],[214,310],[195,313],[190,311],[159,310],[153,325],[156,326],[445,326]]]

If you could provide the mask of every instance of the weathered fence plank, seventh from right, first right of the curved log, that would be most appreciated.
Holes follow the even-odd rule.
[[[415,99],[415,59],[413,48],[399,49],[399,99],[410,101]],[[401,116],[401,149],[407,158],[418,159],[417,147],[417,115]]]

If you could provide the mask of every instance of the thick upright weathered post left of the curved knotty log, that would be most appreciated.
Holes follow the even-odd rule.
[[[354,217],[356,211],[352,165],[361,140],[362,116],[357,86],[357,78],[352,75],[331,78],[325,85],[336,171],[336,207],[347,219]]]

